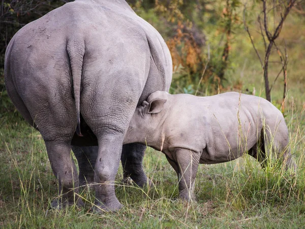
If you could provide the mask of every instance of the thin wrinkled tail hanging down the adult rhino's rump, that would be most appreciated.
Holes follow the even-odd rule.
[[[85,54],[85,41],[83,39],[68,39],[67,52],[70,59],[73,94],[77,112],[76,134],[78,136],[83,136],[80,132],[80,84]]]

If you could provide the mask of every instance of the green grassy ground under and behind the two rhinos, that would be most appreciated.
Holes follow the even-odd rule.
[[[291,176],[283,169],[261,169],[248,155],[216,165],[200,165],[195,193],[198,203],[176,199],[177,178],[165,156],[148,149],[144,170],[155,184],[148,189],[123,186],[117,175],[116,194],[123,209],[95,215],[89,212],[94,193],[84,189],[85,208],[50,209],[57,196],[44,142],[17,113],[0,116],[0,226],[3,228],[303,228],[305,225],[305,149],[303,82],[305,31],[303,21],[287,19],[283,36],[288,42],[288,106],[285,111],[291,149],[298,165]],[[293,35],[294,34],[294,35]],[[293,36],[292,36],[293,35]],[[254,34],[254,37],[258,38]],[[282,39],[283,37],[281,37]],[[236,36],[227,72],[228,88],[264,94],[262,71],[246,33]],[[261,46],[260,46],[261,47]],[[270,81],[278,66],[270,67]],[[282,80],[273,88],[272,101],[281,104]],[[293,105],[294,104],[294,105]]]

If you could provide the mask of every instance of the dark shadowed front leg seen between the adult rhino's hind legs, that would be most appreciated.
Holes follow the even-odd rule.
[[[99,153],[98,146],[71,146],[79,168],[79,184],[86,185],[94,182],[94,167]]]

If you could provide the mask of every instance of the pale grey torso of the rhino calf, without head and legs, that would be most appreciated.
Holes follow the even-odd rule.
[[[234,92],[208,97],[180,94],[170,102],[164,124],[169,148],[203,150],[203,163],[239,157],[256,144],[264,124],[274,129],[280,123],[285,132],[282,113],[260,97]]]

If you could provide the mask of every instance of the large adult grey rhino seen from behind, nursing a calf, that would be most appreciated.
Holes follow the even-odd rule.
[[[125,178],[147,182],[145,146],[122,147],[123,139],[136,106],[154,91],[168,91],[171,75],[164,40],[123,0],[76,0],[18,31],[6,51],[6,88],[45,141],[65,199],[53,207],[72,204],[78,191],[71,145],[80,181],[101,184],[96,205],[102,209],[121,208],[112,185],[120,158],[128,164]]]

